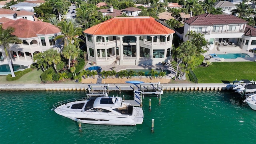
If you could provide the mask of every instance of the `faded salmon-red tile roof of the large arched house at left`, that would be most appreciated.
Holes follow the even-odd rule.
[[[9,21],[2,24],[2,28],[12,26],[15,28],[14,35],[19,38],[32,38],[37,37],[37,34],[55,34],[60,32],[57,26],[54,26],[47,22],[33,22],[31,20],[18,19],[15,21]]]

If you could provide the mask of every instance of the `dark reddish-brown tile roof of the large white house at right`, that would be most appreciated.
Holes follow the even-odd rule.
[[[211,26],[216,24],[247,24],[248,22],[242,18],[238,18],[231,14],[202,14],[188,18],[184,21],[190,26]]]

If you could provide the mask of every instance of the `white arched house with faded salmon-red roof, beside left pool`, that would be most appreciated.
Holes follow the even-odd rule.
[[[15,28],[13,34],[22,40],[22,44],[10,44],[10,48],[7,49],[14,64],[18,62],[32,64],[33,54],[44,52],[50,48],[60,51],[61,40],[55,41],[55,37],[61,34],[57,26],[47,22],[33,22],[24,19],[10,20],[2,24],[4,29],[10,26]],[[0,64],[7,64],[6,53],[2,46],[0,46],[0,55],[4,58]]]

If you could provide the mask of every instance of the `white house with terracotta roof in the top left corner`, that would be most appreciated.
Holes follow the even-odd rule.
[[[16,15],[16,18],[14,18],[14,14]],[[9,18],[11,20],[18,20],[20,18],[26,19],[26,20],[31,20],[34,21],[34,12],[28,12],[25,10],[19,10],[19,11],[14,11],[14,10],[9,10],[5,8],[0,8],[0,18]]]

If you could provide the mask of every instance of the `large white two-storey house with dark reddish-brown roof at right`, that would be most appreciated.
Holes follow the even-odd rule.
[[[204,38],[211,44],[210,49],[214,48],[214,44],[236,44],[244,50],[250,50],[248,45],[255,45],[255,42],[252,41],[255,38],[253,37],[254,34],[251,38],[246,37],[246,40],[248,40],[246,46],[243,41],[241,42],[245,36],[249,35],[245,34],[248,33],[245,29],[250,28],[250,32],[254,32],[254,29],[247,26],[247,21],[231,14],[202,14],[188,18],[184,22],[183,41],[188,40],[189,36],[186,36],[186,34],[192,30],[204,34]]]

